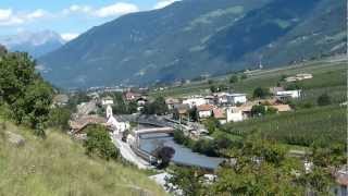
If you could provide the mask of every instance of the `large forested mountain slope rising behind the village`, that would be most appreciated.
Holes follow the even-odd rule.
[[[124,15],[42,58],[62,87],[147,84],[341,53],[345,2],[183,0]]]

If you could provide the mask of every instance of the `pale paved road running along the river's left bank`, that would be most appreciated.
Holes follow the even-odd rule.
[[[128,144],[123,143],[120,138],[117,138],[116,135],[110,134],[110,136],[111,136],[113,144],[119,148],[119,150],[124,159],[134,163],[139,169],[151,169],[152,168],[152,166],[150,166],[147,161],[145,161],[144,159],[141,159],[137,155],[135,155]]]

